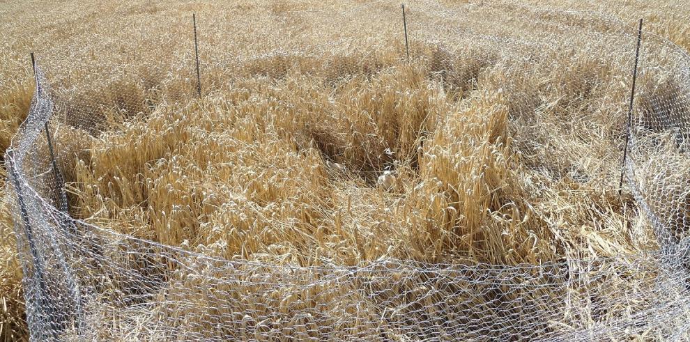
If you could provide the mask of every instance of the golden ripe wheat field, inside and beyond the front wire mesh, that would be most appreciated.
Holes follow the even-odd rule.
[[[406,4],[407,58],[401,19],[381,20],[399,13],[390,1],[0,1],[0,148],[29,111],[36,52],[56,93],[70,215],[89,224],[300,266],[537,265],[658,248],[633,196],[618,194],[629,75],[613,70],[631,64],[606,56],[629,53],[634,34],[612,46],[620,37],[601,21],[588,24],[603,37],[592,41],[571,34],[584,16],[521,6],[612,15],[633,33],[643,17],[646,31],[687,51],[690,8],[480,4],[457,24],[473,34],[454,36],[453,11],[477,2]],[[502,19],[489,15],[497,8],[508,9]],[[511,42],[507,53],[482,35],[550,50],[520,59],[541,47]],[[23,341],[7,202],[0,341]]]

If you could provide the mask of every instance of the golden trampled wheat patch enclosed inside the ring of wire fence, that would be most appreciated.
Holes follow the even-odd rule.
[[[528,77],[534,65],[491,51],[412,46],[412,61],[395,50],[256,59],[260,72],[241,65],[247,75],[190,102],[124,80],[84,94],[91,107],[58,102],[66,121],[89,109],[90,127],[102,127],[56,122],[71,214],[296,265],[541,263],[653,248],[617,194],[627,89],[599,76],[611,65],[574,56]]]

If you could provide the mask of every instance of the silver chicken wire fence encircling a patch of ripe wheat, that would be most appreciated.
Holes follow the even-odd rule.
[[[102,10],[92,6],[86,15]],[[36,49],[31,109],[6,154],[33,341],[688,338],[690,58],[679,47],[643,33],[624,168],[657,247],[537,264],[385,258],[304,267],[225,260],[117,233],[70,212],[64,183],[74,156],[66,151],[74,149],[55,127],[98,137],[113,119],[99,113],[126,120],[196,98],[192,10],[202,97],[247,79],[268,84],[250,93],[295,77],[319,77],[336,88],[418,68],[458,101],[477,84],[495,84],[511,120],[526,127],[554,107],[610,115],[615,125],[607,134],[616,149],[606,160],[622,160],[637,31],[611,17],[420,1],[406,6],[406,47],[401,7],[388,1],[323,8],[128,3],[116,13],[141,13],[136,22],[84,20],[75,31],[93,36],[75,36],[70,49]],[[104,42],[102,33],[116,38]],[[96,41],[113,56],[99,59],[88,44]],[[443,126],[443,114],[433,115]],[[519,140],[525,133],[514,134]],[[539,164],[549,150],[522,141],[537,156],[532,168],[553,177],[569,172]],[[581,177],[618,185],[609,169]]]

